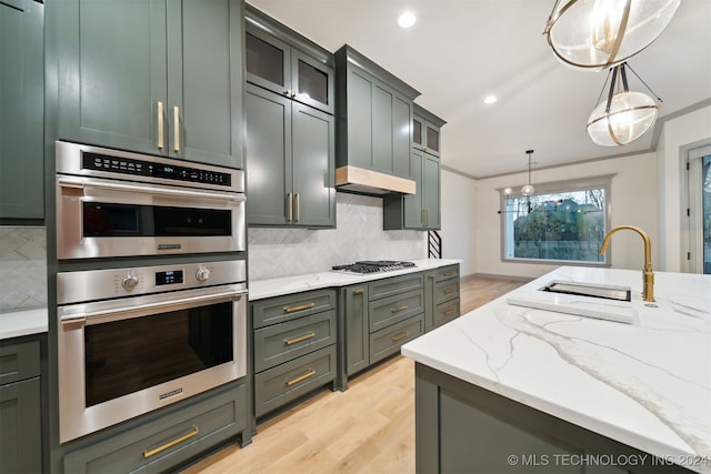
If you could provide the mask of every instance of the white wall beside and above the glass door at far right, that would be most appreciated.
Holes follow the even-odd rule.
[[[669,120],[664,123],[657,147],[659,167],[659,270],[680,272],[682,270],[681,253],[685,248],[682,242],[682,224],[685,212],[682,211],[683,181],[687,179],[682,168],[685,163],[685,151],[693,143],[711,140],[711,107]]]

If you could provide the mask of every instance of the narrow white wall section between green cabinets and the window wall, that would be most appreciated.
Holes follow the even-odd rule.
[[[442,258],[462,260],[462,276],[477,273],[474,214],[477,213],[475,182],[471,178],[442,170]]]

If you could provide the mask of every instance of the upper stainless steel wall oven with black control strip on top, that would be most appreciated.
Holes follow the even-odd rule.
[[[57,142],[57,256],[246,250],[244,172]]]

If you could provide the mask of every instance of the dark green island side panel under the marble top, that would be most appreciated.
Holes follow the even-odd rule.
[[[417,363],[415,472],[691,471]]]

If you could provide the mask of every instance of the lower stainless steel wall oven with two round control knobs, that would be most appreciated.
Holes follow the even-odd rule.
[[[247,374],[244,261],[60,272],[60,442]]]

